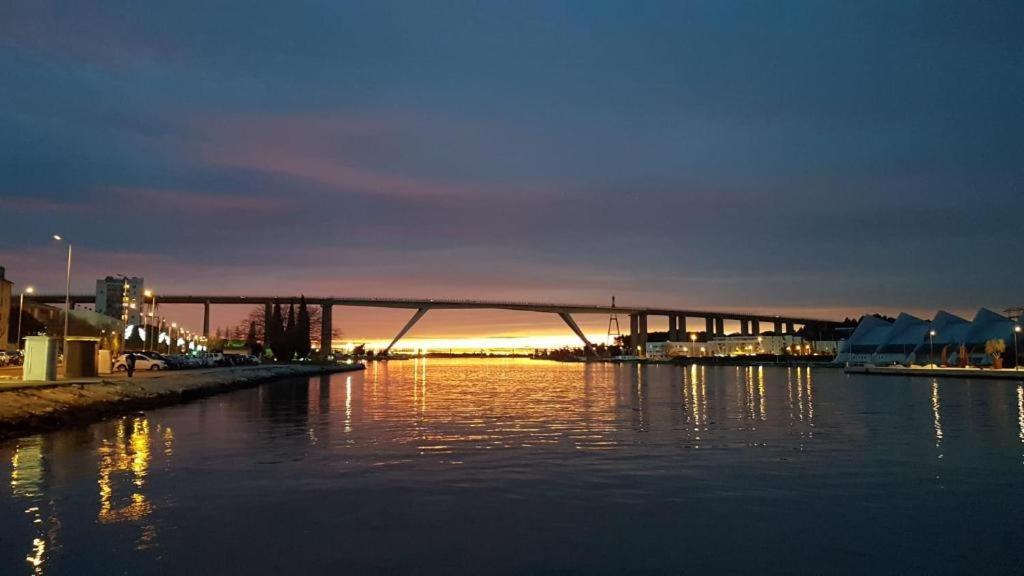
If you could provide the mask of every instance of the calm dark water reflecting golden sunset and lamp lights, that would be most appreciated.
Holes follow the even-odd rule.
[[[419,360],[0,444],[0,574],[1019,574],[1024,388]]]

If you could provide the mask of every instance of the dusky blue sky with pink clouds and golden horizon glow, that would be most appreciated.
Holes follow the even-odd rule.
[[[1022,25],[1020,2],[3,2],[0,265],[61,291],[60,233],[76,292],[1021,305]],[[411,335],[542,333],[571,336],[479,312]]]

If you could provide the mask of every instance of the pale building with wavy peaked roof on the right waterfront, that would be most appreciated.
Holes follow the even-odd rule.
[[[973,320],[940,311],[931,321],[900,314],[895,322],[873,316],[860,320],[844,342],[836,362],[843,364],[990,366],[985,343],[1002,340],[1002,358],[1016,365],[1019,338],[1010,318],[981,308]]]

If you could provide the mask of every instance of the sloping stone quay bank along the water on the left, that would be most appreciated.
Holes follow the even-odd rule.
[[[52,382],[0,382],[0,440],[188,402],[270,380],[362,370],[362,364],[272,364]]]

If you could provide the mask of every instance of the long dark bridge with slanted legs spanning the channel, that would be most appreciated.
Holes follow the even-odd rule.
[[[62,304],[65,295],[62,294],[26,294],[26,299],[45,304]],[[270,324],[270,311],[275,301],[292,302],[297,300],[297,296],[229,296],[229,295],[171,295],[161,294],[160,303],[165,304],[197,304],[203,306],[203,334],[210,336],[210,306],[221,305],[262,305],[265,326]],[[95,302],[93,294],[72,294],[69,299],[71,307],[77,304]],[[705,332],[713,336],[725,335],[725,322],[734,321],[739,323],[741,334],[756,335],[761,333],[762,323],[771,325],[772,330],[778,334],[793,334],[797,326],[816,326],[828,328],[839,324],[834,320],[822,320],[813,318],[800,318],[792,316],[774,316],[750,313],[731,313],[722,311],[700,311],[685,308],[660,308],[641,306],[618,306],[618,305],[591,305],[572,303],[553,302],[522,302],[522,301],[502,301],[502,300],[469,300],[469,299],[433,299],[433,298],[373,298],[373,297],[335,297],[335,296],[306,296],[308,305],[318,305],[322,308],[321,342],[330,342],[333,331],[333,310],[334,306],[353,307],[383,307],[383,308],[406,308],[415,311],[409,322],[402,326],[391,343],[384,349],[384,354],[390,349],[404,336],[417,322],[431,310],[506,310],[518,312],[536,312],[557,315],[569,327],[570,330],[583,341],[588,351],[593,351],[593,344],[583,333],[572,315],[600,314],[628,315],[630,318],[630,346],[633,351],[643,351],[647,346],[647,320],[649,317],[666,317],[669,320],[669,339],[679,341],[685,339],[687,330],[687,319],[702,319],[705,321]]]

